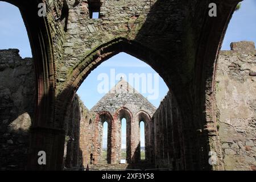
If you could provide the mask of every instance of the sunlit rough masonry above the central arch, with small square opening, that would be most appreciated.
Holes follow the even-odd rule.
[[[139,31],[146,19],[144,15],[150,10],[150,2],[144,0],[104,0],[100,1],[100,6],[96,3],[96,7],[100,8],[101,18],[92,19],[89,15],[92,7],[89,7],[88,2],[88,0],[79,3],[75,3],[75,0],[68,2],[68,26],[64,59],[60,63],[60,81],[65,80],[66,75],[79,63],[84,53],[89,53],[102,43],[118,36],[134,38],[134,31]]]

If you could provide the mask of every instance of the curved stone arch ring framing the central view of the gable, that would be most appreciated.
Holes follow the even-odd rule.
[[[129,40],[123,37],[115,38],[93,49],[81,59],[80,63],[73,67],[72,72],[68,75],[68,80],[64,84],[63,92],[59,94],[57,99],[61,101],[56,103],[57,106],[62,108],[59,110],[61,113],[57,113],[57,122],[63,121],[65,111],[71,104],[76,91],[89,73],[97,68],[98,65],[120,52],[126,52],[129,55],[144,61],[155,69],[166,83],[170,81],[164,73],[164,66],[162,64],[164,61],[167,61],[164,57],[135,40]],[[170,89],[170,84],[167,84],[167,86]]]

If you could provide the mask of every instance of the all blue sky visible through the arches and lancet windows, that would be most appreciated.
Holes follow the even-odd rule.
[[[256,42],[255,22],[256,1],[243,1],[241,9],[233,14],[233,18],[230,21],[221,49],[229,50],[231,42],[237,42],[241,40],[251,40]],[[20,50],[20,56],[32,57],[30,43],[27,37],[27,31],[24,27],[24,23],[18,8],[8,3],[0,2],[0,49],[8,48],[18,48]],[[99,101],[100,98],[104,96],[104,93],[98,93],[97,91],[97,86],[101,82],[101,80],[98,80],[98,76],[101,73],[106,73],[106,75],[110,76],[110,71],[113,69],[116,75],[118,73],[123,73],[126,76],[129,75],[129,73],[146,73],[151,75],[156,74],[154,69],[152,69],[143,61],[138,60],[133,56],[127,55],[126,53],[119,53],[118,55],[112,57],[111,59],[98,66],[92,73],[90,73],[90,75],[80,86],[77,93],[81,97],[81,100],[84,101],[84,104],[86,107],[88,107],[88,109],[92,108],[92,106],[95,105],[97,101]],[[119,78],[117,77],[115,83],[117,83],[118,80]],[[138,91],[141,92],[141,90]],[[156,107],[159,106],[160,101],[168,92],[166,84],[160,77],[158,91],[159,96],[156,99],[149,100]],[[144,97],[151,95],[149,93],[142,94]],[[122,128],[122,130],[124,129]],[[144,135],[141,137],[144,138]],[[122,146],[125,146],[125,140],[122,140]],[[144,146],[144,143],[142,143],[142,146]]]

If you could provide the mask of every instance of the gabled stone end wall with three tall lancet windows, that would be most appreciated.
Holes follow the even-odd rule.
[[[151,117],[156,108],[137,92],[125,80],[120,80],[109,93],[90,110],[96,113],[94,127],[94,156],[96,163],[101,160],[102,125],[107,121],[109,126],[108,161],[119,163],[121,160],[121,120],[126,119],[126,152],[127,163],[140,162],[140,129],[139,122],[145,123],[146,159],[151,162],[152,135],[150,135]]]

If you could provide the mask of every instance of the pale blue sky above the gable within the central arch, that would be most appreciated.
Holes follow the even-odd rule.
[[[127,81],[134,90],[141,93],[156,108],[169,91],[166,82],[150,65],[134,56],[121,52],[104,61],[90,72],[76,93],[80,96],[86,108],[90,110],[120,80]],[[117,89],[120,89],[118,90],[120,93],[125,92],[127,85],[121,84]],[[115,97],[118,97],[120,93],[116,93]],[[114,107],[114,103],[110,102],[109,104]]]

